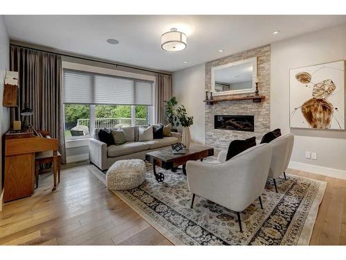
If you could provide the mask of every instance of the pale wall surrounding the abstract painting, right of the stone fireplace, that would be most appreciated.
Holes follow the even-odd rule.
[[[346,60],[346,24],[271,44],[271,128],[295,135],[292,167],[346,178],[346,131],[289,128],[289,69],[337,60]]]

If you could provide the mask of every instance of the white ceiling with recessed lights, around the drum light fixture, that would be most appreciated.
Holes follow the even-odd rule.
[[[11,40],[152,69],[178,71],[239,51],[346,22],[331,15],[6,15]],[[170,28],[188,35],[177,53],[161,49]],[[280,30],[273,35],[272,32]],[[114,38],[118,45],[107,44]],[[224,49],[220,53],[218,50]],[[184,61],[188,61],[184,64]]]

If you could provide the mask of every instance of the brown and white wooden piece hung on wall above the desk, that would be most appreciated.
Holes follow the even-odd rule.
[[[3,106],[17,107],[18,72],[6,71],[5,85],[3,87]]]

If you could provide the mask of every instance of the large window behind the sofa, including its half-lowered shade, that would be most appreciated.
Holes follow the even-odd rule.
[[[95,128],[147,125],[154,114],[153,81],[64,69],[65,138]]]

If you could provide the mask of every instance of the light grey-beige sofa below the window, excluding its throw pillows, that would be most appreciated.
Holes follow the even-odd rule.
[[[181,141],[179,132],[171,132],[171,137],[154,139],[151,141],[138,141],[138,126],[134,126],[134,141],[127,141],[118,146],[107,147],[102,141],[98,140],[97,130],[93,139],[89,139],[89,159],[92,164],[98,166],[102,171],[107,170],[114,162],[120,159],[145,159],[145,154],[149,150],[160,150],[170,147]]]

